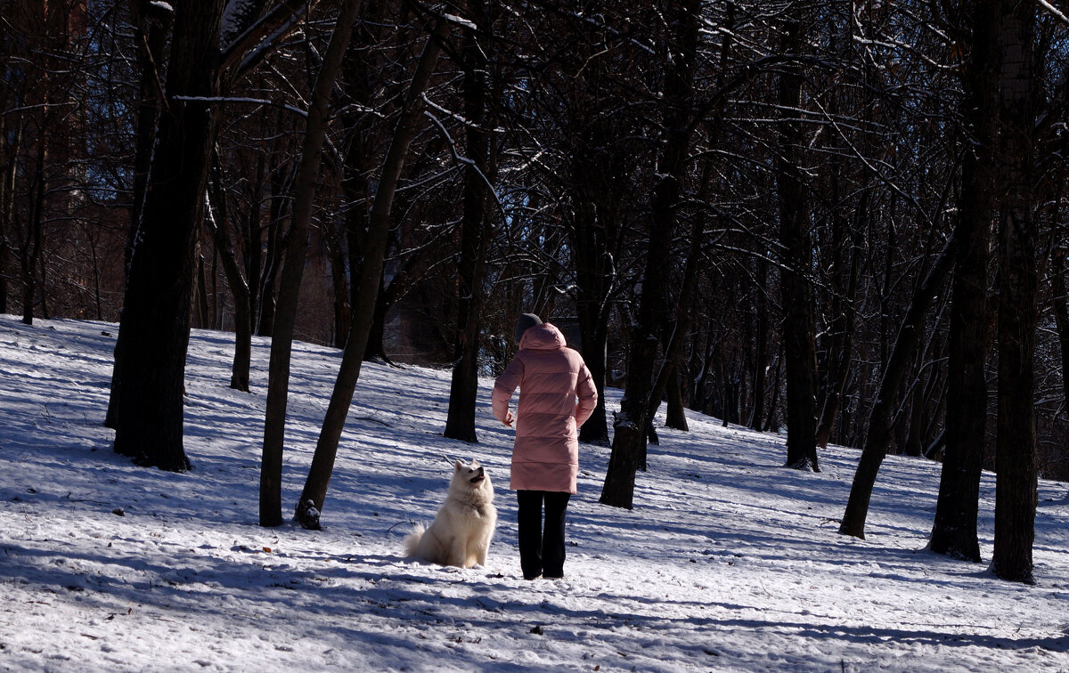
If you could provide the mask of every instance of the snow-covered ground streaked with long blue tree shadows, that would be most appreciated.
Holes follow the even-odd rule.
[[[1043,482],[1038,585],[925,550],[939,466],[889,457],[868,539],[837,531],[857,452],[784,469],[784,439],[690,416],[661,431],[634,511],[598,503],[582,448],[563,580],[524,581],[511,431],[441,437],[449,375],[365,366],[325,530],[257,526],[268,346],[230,390],[231,338],[187,369],[193,471],[135,467],[102,426],[114,325],[0,316],[0,668],[4,670],[1069,671],[1069,496]],[[339,362],[296,344],[283,499],[304,484]],[[611,406],[615,406],[614,398]],[[487,567],[405,560],[443,498],[443,456],[497,487]],[[981,486],[991,554],[994,480]]]

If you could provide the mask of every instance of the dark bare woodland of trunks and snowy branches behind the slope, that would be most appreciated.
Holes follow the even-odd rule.
[[[995,469],[993,566],[1031,581],[1037,475],[1069,476],[1056,9],[232,4],[0,0],[0,309],[120,322],[117,451],[189,468],[189,329],[233,330],[281,522],[290,347],[331,343],[314,528],[362,361],[452,366],[443,432],[478,441],[536,312],[624,391],[582,435],[606,504],[667,402],[786,433],[795,469],[858,448],[847,534],[888,453],[941,460],[931,548],[963,559]]]

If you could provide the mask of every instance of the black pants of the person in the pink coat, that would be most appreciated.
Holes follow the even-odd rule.
[[[571,494],[548,490],[517,490],[520,504],[520,567],[533,579],[564,576],[564,511]],[[545,534],[542,533],[542,502],[545,501]]]

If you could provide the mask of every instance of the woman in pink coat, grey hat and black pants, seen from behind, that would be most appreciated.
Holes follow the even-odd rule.
[[[524,579],[564,576],[564,511],[575,492],[579,433],[598,402],[583,356],[560,330],[533,313],[516,320],[520,353],[494,381],[494,417],[516,421],[509,488],[518,503],[520,567]],[[516,387],[516,416],[509,402]],[[545,505],[545,532],[542,507]]]

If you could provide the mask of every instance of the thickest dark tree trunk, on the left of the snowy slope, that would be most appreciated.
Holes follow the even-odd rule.
[[[156,131],[119,328],[114,450],[172,471],[189,469],[182,442],[189,301],[215,137],[211,107],[179,97],[217,94],[221,18],[219,0],[176,7],[170,100]]]

